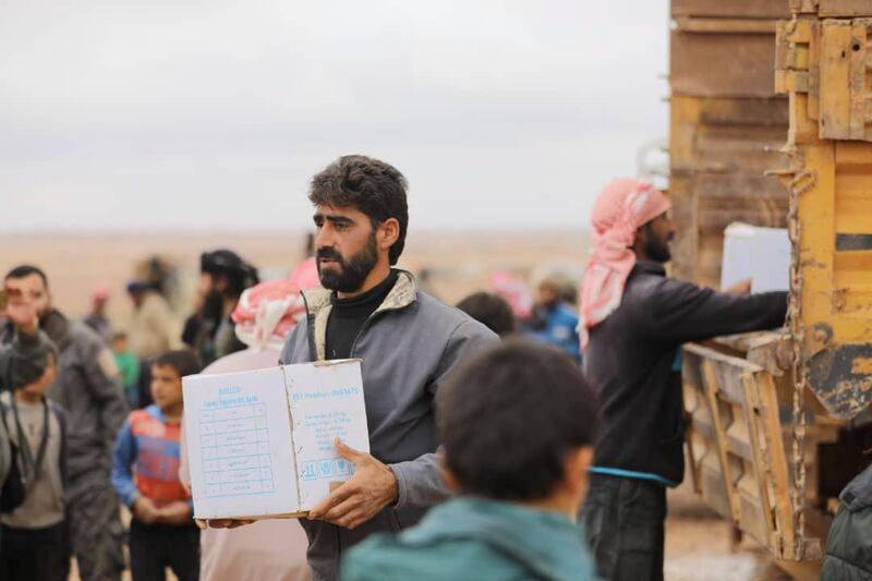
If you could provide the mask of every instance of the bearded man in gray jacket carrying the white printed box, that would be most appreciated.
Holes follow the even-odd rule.
[[[434,397],[463,356],[498,340],[391,268],[405,242],[405,187],[396,168],[364,156],[340,157],[311,184],[325,289],[304,291],[305,324],[280,362],[362,359],[372,451],[338,443],[354,475],[302,521],[315,580],[336,579],[348,547],[415,524],[448,496],[435,453]]]

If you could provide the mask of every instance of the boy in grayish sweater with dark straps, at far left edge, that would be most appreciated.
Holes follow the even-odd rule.
[[[63,581],[70,569],[66,534],[66,419],[46,397],[58,376],[57,353],[48,354],[38,379],[0,395],[7,435],[17,450],[21,504],[0,515],[0,579]]]

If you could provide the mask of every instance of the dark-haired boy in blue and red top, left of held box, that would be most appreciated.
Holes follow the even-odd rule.
[[[134,581],[180,581],[199,576],[199,530],[191,497],[179,481],[182,377],[199,373],[190,351],[168,351],[152,364],[155,403],[131,412],[114,447],[112,484],[133,512],[130,561]]]

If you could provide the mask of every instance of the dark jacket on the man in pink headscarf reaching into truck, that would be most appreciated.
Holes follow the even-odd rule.
[[[603,410],[594,471],[632,471],[680,483],[681,344],[772,329],[784,324],[786,312],[786,292],[735,296],[667,278],[657,263],[637,263],[620,306],[591,329],[584,352],[584,374]]]

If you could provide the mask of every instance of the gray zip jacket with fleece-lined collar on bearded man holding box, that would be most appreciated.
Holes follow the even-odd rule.
[[[280,362],[325,359],[330,291],[304,291],[307,320],[291,332]],[[315,581],[339,574],[352,545],[377,532],[397,533],[415,524],[426,507],[448,496],[439,477],[434,397],[458,362],[497,336],[465,313],[420,292],[411,274],[399,270],[393,288],[361,327],[351,356],[363,360],[370,451],[397,476],[399,498],[354,530],[301,520],[308,536]]]

